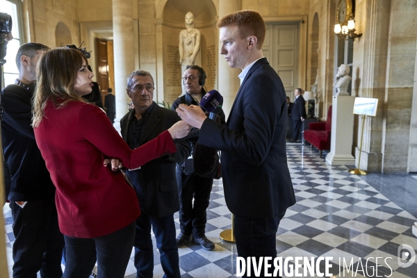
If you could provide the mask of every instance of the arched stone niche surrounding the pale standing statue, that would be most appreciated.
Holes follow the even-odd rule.
[[[179,33],[186,28],[186,13],[194,15],[194,28],[201,34],[200,55],[206,71],[207,90],[217,88],[218,35],[215,27],[216,10],[213,1],[168,0],[163,12],[163,97],[165,103],[181,95],[182,74],[179,63]]]

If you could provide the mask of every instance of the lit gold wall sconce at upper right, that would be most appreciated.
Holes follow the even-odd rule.
[[[359,38],[362,33],[355,34],[354,31],[354,10],[352,0],[338,0],[336,10],[336,25],[334,33],[339,40],[352,40]]]

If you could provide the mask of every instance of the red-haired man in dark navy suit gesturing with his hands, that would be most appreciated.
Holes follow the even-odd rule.
[[[286,92],[263,57],[266,27],[259,13],[240,10],[217,26],[220,54],[229,67],[242,70],[227,124],[207,118],[196,106],[180,105],[177,113],[199,129],[201,144],[222,151],[224,199],[234,213],[238,256],[275,258],[279,222],[295,204],[286,158]],[[261,266],[264,273],[268,276]]]

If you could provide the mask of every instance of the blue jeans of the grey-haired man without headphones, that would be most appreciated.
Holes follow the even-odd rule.
[[[135,267],[136,277],[154,275],[154,248],[152,246],[151,227],[155,234],[156,246],[161,254],[163,277],[181,277],[179,273],[179,256],[175,239],[174,215],[154,218],[142,211],[136,220]]]

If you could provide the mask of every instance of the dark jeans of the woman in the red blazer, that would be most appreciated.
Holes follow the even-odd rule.
[[[63,278],[87,278],[97,260],[97,276],[123,278],[135,239],[135,222],[98,238],[65,237]]]

